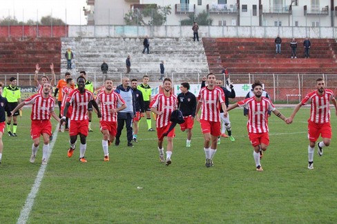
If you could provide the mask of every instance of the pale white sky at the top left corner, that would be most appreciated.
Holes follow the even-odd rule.
[[[69,25],[86,25],[83,7],[86,0],[0,0],[0,18],[15,16],[18,21],[52,15]]]

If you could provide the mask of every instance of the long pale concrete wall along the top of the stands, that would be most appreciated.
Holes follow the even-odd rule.
[[[336,38],[337,28],[200,26],[199,37]],[[69,37],[193,37],[190,26],[69,26]]]

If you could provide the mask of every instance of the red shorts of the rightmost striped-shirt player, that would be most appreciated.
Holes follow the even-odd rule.
[[[319,136],[322,136],[322,138],[331,139],[332,131],[330,122],[314,123],[312,121],[308,121],[309,141],[317,141]]]

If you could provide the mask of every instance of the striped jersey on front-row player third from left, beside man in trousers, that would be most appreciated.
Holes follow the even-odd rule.
[[[102,117],[100,121],[117,121],[117,113],[113,114],[110,110],[117,109],[118,104],[124,105],[125,101],[117,92],[105,91],[99,92],[96,96],[96,102],[101,106]]]

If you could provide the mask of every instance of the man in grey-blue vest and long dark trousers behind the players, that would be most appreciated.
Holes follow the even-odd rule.
[[[132,120],[136,114],[135,111],[135,98],[133,96],[133,90],[129,86],[130,80],[128,77],[122,79],[122,84],[118,85],[115,92],[120,94],[125,101],[126,108],[120,110],[117,114],[117,134],[115,145],[119,145],[119,137],[122,134],[124,123],[126,126],[126,138],[128,139],[128,147],[133,147],[133,135],[132,135]]]

